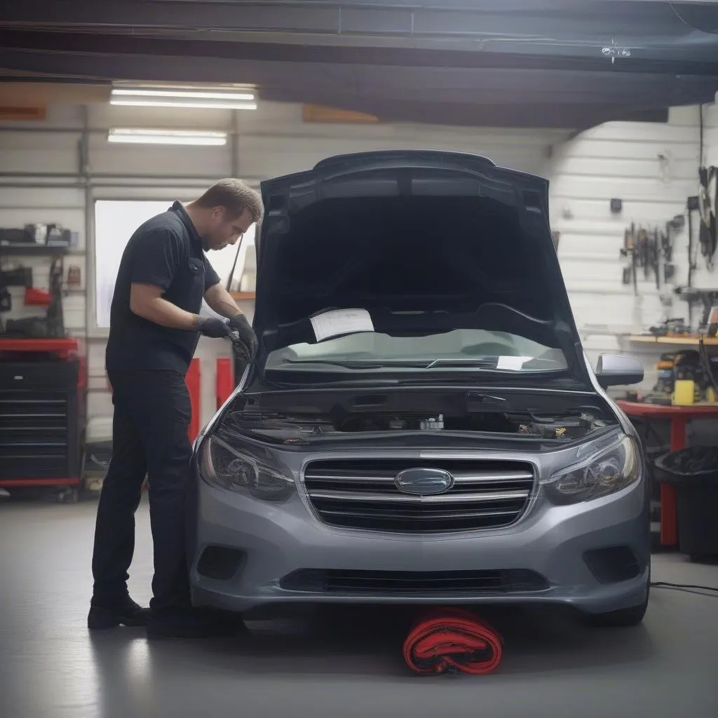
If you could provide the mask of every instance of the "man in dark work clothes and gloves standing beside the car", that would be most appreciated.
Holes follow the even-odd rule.
[[[205,251],[235,244],[261,220],[261,197],[245,182],[221,180],[186,206],[174,202],[130,238],[110,314],[106,369],[114,404],[112,460],[95,525],[88,628],[146,625],[149,636],[220,635],[227,619],[190,603],[187,489],[192,446],[185,374],[200,334],[238,332],[249,358],[257,340]],[[219,317],[200,317],[202,298]],[[145,476],[154,542],[149,609],[129,596],[134,514]]]

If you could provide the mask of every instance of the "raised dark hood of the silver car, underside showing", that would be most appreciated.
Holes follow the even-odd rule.
[[[377,332],[512,332],[589,383],[556,257],[549,183],[483,157],[383,151],[263,182],[254,326],[266,355],[309,317],[366,309]]]

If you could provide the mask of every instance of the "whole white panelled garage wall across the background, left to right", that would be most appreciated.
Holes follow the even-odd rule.
[[[554,228],[561,230],[559,256],[579,326],[627,327],[631,322],[625,317],[633,314],[636,302],[620,284],[617,253],[623,227],[631,218],[663,223],[681,211],[687,195],[696,193],[695,118],[696,109],[687,108],[672,113],[668,125],[614,123],[565,141],[568,131],[308,124],[302,122],[300,106],[279,103],[262,103],[258,111],[238,113],[236,119],[227,111],[110,106],[90,106],[85,116],[84,108],[55,106],[43,123],[13,123],[13,131],[0,124],[0,226],[55,221],[78,231],[78,247],[66,266],[83,264],[83,286],[93,286],[94,224],[86,208],[93,208],[95,200],[162,200],[169,205],[177,198],[197,197],[220,177],[235,174],[258,182],[351,151],[474,152],[497,164],[551,177],[552,220]],[[83,157],[78,152],[83,122],[90,130],[88,175],[82,172]],[[714,112],[709,123],[715,128]],[[236,143],[219,148],[109,145],[105,131],[111,126],[228,130],[236,126],[237,136]],[[715,154],[715,129],[707,132],[707,144]],[[554,149],[550,159],[549,147]],[[654,165],[656,155],[666,149],[673,162],[670,177],[663,181]],[[625,200],[620,218],[610,215],[610,197]],[[573,215],[570,220],[563,217],[566,205]],[[676,248],[676,255],[681,258],[684,251]],[[5,266],[16,259],[21,258],[4,258]],[[38,258],[22,258],[22,262],[34,267],[38,286],[43,286],[43,278],[47,282],[46,262]],[[218,269],[223,274],[224,258]],[[642,294],[641,317],[650,316],[650,323],[657,299],[650,287]],[[105,334],[95,329],[93,292],[87,299],[84,292],[66,297],[65,320],[70,332],[88,342],[88,414],[106,416],[111,414],[111,401],[103,369]],[[22,307],[22,294],[15,304]],[[251,302],[243,303],[243,309],[251,315]],[[19,312],[32,313],[22,308]],[[612,337],[587,338],[592,355],[612,350],[615,343]],[[200,341],[202,421],[214,411],[215,358],[225,352],[221,342]]]

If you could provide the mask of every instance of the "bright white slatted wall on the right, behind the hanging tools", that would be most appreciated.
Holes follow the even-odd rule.
[[[704,162],[718,164],[718,110],[707,106],[703,114]],[[686,198],[698,194],[698,164],[698,107],[671,109],[665,124],[606,123],[556,146],[551,160],[551,226],[561,232],[561,270],[587,354],[593,361],[601,352],[638,355],[646,370],[644,387],[655,381],[661,345],[631,345],[628,335],[658,323],[661,303],[655,279],[645,281],[642,272],[638,296],[621,283],[623,233],[631,222],[664,228],[684,214]],[[619,215],[610,212],[612,198],[623,200]],[[694,214],[696,241],[697,228]],[[686,222],[674,240],[676,284],[686,284],[687,246]],[[693,285],[718,288],[718,275],[701,259]],[[684,302],[676,299],[673,316],[686,316]]]

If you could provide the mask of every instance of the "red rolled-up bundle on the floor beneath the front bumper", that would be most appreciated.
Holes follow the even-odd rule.
[[[404,660],[422,674],[490,673],[501,661],[503,641],[470,611],[443,608],[424,615],[404,641]]]

